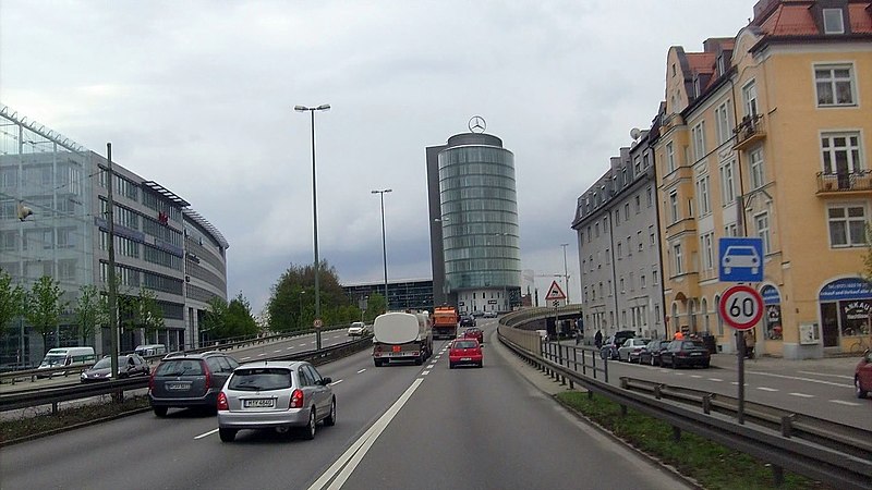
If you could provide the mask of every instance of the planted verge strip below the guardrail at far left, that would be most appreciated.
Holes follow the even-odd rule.
[[[0,445],[12,444],[22,440],[48,436],[55,432],[73,429],[83,425],[111,420],[148,408],[148,396],[128,396],[116,403],[110,395],[105,395],[95,404],[61,408],[57,415],[48,413],[24,413],[19,418],[0,420]]]

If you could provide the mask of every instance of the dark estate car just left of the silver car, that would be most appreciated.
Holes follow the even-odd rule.
[[[158,417],[170,407],[215,411],[218,393],[239,363],[222,352],[167,354],[148,380],[148,400]]]

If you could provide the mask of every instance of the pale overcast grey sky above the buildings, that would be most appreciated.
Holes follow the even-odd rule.
[[[670,46],[754,0],[0,0],[0,103],[181,196],[255,314],[318,252],[340,282],[431,279],[425,147],[473,115],[514,154],[521,268],[580,302],[578,197],[646,128]],[[562,279],[559,279],[561,285]]]

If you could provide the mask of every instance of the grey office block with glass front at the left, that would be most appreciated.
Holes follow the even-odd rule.
[[[47,347],[93,345],[109,351],[105,327],[82,339],[73,310],[83,285],[106,291],[108,255],[108,161],[7,107],[0,108],[0,268],[29,290],[48,275],[60,283],[66,314]],[[206,302],[227,299],[228,243],[160,184],[113,162],[116,272],[119,294],[157,296],[165,327],[120,332],[120,350],[164,343],[170,350],[198,346]],[[19,219],[20,206],[33,210]],[[122,318],[123,320],[123,318]],[[33,365],[43,341],[23,319],[0,341],[0,364]]]

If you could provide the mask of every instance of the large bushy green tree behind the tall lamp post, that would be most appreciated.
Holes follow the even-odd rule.
[[[326,326],[347,323],[360,318],[351,315],[351,301],[339,284],[336,269],[326,260],[320,264],[320,319]],[[312,328],[315,320],[315,268],[312,265],[288,268],[272,286],[267,303],[269,329],[290,332]]]

